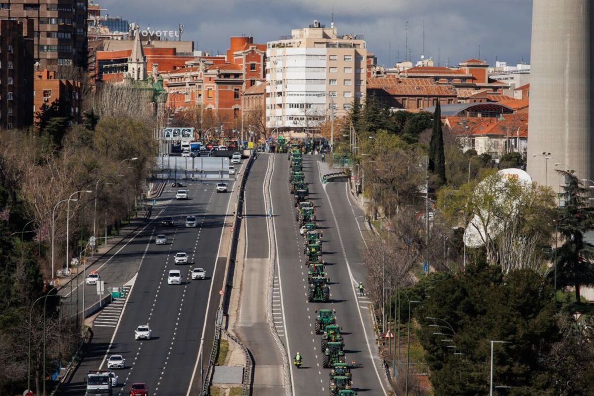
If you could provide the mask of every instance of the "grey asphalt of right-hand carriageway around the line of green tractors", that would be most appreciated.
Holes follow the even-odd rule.
[[[293,394],[328,393],[329,370],[323,368],[320,335],[314,331],[315,309],[328,308],[336,311],[337,324],[343,328],[347,362],[355,361],[357,365],[353,370],[353,388],[360,394],[386,395],[386,376],[377,356],[369,300],[359,297],[355,288],[364,278],[361,264],[363,213],[350,200],[346,183],[321,184],[318,159],[305,156],[304,171],[309,182],[309,197],[316,207],[317,223],[324,233],[323,258],[331,281],[328,303],[307,302],[307,265],[289,195],[286,155],[274,156],[271,173],[273,229],[286,326],[284,341],[291,356],[299,352],[304,358],[301,369],[294,366],[291,369]]]

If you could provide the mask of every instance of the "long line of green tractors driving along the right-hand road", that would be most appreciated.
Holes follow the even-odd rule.
[[[305,263],[308,266],[307,300],[310,303],[330,301],[330,277],[322,258],[322,230],[318,229],[314,204],[309,201],[309,186],[305,182],[303,154],[298,144],[291,144],[289,150],[289,191],[295,199],[295,220],[303,236]],[[331,369],[329,389],[331,396],[352,396],[351,369],[355,362],[346,363],[345,341],[342,328],[336,324],[331,309],[316,309],[315,334],[321,335],[320,350],[324,368]],[[299,357],[301,359],[301,357]],[[301,361],[296,361],[301,366]],[[299,364],[297,364],[299,363]]]

